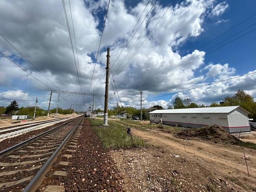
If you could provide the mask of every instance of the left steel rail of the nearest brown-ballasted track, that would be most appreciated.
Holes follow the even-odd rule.
[[[10,154],[10,153],[13,152],[14,150],[20,149],[21,147],[23,147],[23,146],[26,145],[27,143],[29,143],[29,142],[31,142],[31,141],[34,141],[35,139],[38,139],[38,138],[40,138],[40,137],[42,137],[42,136],[48,134],[49,132],[52,132],[52,131],[54,131],[54,130],[56,130],[56,129],[58,129],[58,128],[64,126],[64,125],[67,125],[68,123],[70,123],[70,122],[72,122],[72,121],[74,121],[74,120],[76,120],[76,118],[74,118],[74,119],[72,119],[72,120],[69,120],[69,121],[63,123],[62,125],[58,125],[57,127],[54,127],[53,129],[50,129],[50,130],[47,130],[47,131],[45,131],[45,132],[43,132],[43,133],[41,133],[41,134],[38,134],[38,135],[36,135],[36,136],[34,136],[34,137],[32,137],[32,138],[29,138],[29,139],[27,139],[27,140],[25,140],[25,141],[22,141],[21,143],[17,143],[16,145],[13,145],[13,146],[11,146],[11,147],[5,149],[5,150],[0,151],[0,157],[2,157],[2,156],[4,156],[4,155],[7,155],[7,154]]]

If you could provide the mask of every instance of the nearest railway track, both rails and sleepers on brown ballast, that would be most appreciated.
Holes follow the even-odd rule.
[[[79,133],[82,120],[74,118],[1,151],[0,191],[35,191],[66,144],[70,143],[65,151],[67,157],[76,147],[70,138],[76,140],[74,134]]]

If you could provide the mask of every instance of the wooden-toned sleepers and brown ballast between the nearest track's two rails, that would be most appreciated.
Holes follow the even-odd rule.
[[[67,121],[21,146],[0,152],[0,191],[23,190],[80,120]]]

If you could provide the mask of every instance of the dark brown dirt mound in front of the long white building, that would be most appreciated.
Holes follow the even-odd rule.
[[[238,144],[240,142],[238,138],[232,136],[218,125],[181,130],[176,133],[176,136],[180,138],[200,138],[204,140],[211,140],[214,143]]]

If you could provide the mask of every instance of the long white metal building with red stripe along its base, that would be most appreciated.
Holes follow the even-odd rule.
[[[181,127],[219,125],[229,133],[248,132],[249,112],[240,106],[163,109],[149,113],[150,122]]]

